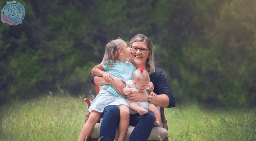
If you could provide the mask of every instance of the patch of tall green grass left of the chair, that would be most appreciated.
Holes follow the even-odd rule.
[[[85,114],[83,98],[67,95],[2,107],[0,141],[77,141]]]

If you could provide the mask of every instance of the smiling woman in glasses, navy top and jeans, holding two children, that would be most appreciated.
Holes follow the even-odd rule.
[[[160,107],[175,107],[175,99],[173,93],[171,92],[166,76],[163,71],[154,67],[154,53],[152,41],[143,34],[135,35],[131,41],[131,53],[132,57],[129,60],[134,66],[138,68],[145,67],[145,70],[149,72],[150,81],[154,85],[153,92],[157,94],[157,97],[150,97],[146,93],[139,92],[137,94],[129,94],[127,99],[129,101],[138,102],[149,102]],[[106,85],[107,83],[103,77],[92,77],[93,84],[96,85]],[[115,88],[117,93],[124,95],[122,90],[125,88],[123,79],[114,78],[111,81],[111,85]],[[119,125],[120,121],[120,111],[115,105],[109,105],[104,108],[102,114],[102,123],[100,126],[101,141],[113,141],[115,137],[115,131]],[[152,112],[148,112],[145,115],[130,114],[129,125],[135,126],[131,133],[129,141],[146,141],[151,133],[154,126],[154,115]]]

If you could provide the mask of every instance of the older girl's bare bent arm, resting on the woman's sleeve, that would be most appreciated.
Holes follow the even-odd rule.
[[[111,74],[106,73],[104,70],[105,69],[102,64],[98,64],[97,66],[92,68],[92,73],[99,77],[103,77],[108,83],[114,80],[114,77]]]

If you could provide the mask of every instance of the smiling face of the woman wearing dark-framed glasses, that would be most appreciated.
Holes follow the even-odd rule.
[[[132,43],[131,47],[149,49],[147,47],[146,42],[143,42],[143,41],[134,42],[134,43]],[[147,50],[146,52],[141,52],[139,49],[137,51],[133,51],[131,49],[131,51],[132,51],[132,60],[134,61],[134,63],[137,65],[145,66],[147,58],[149,57],[149,51]]]

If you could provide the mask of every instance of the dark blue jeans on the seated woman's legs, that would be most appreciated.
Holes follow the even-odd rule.
[[[113,141],[115,132],[120,121],[120,110],[115,105],[109,105],[104,108],[102,113],[102,123],[100,125],[100,141]],[[154,126],[155,117],[152,112],[145,115],[130,114],[129,125],[135,126],[131,133],[129,141],[146,141],[149,138]]]

